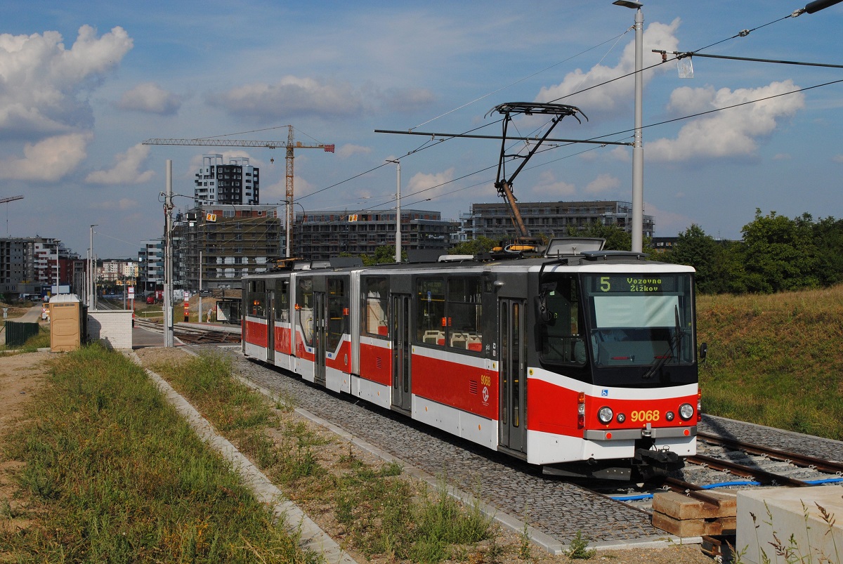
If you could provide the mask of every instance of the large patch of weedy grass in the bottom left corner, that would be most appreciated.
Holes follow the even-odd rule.
[[[86,346],[50,364],[31,419],[7,437],[24,463],[13,561],[315,562],[201,442],[141,368]]]

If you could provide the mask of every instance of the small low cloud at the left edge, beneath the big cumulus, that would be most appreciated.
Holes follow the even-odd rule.
[[[55,182],[71,173],[87,156],[90,133],[70,133],[26,143],[24,158],[0,160],[0,178]]]

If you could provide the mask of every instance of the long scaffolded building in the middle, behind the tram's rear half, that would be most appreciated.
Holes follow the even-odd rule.
[[[299,212],[294,221],[293,256],[310,261],[341,253],[372,255],[380,246],[395,246],[395,210]],[[401,249],[447,252],[457,226],[440,212],[402,209]]]

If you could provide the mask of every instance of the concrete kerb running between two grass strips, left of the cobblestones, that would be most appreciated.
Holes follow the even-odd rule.
[[[126,352],[137,364],[142,364],[135,352]],[[165,398],[173,405],[181,416],[193,427],[199,437],[223,454],[234,470],[243,478],[247,486],[255,492],[255,496],[267,505],[277,518],[284,519],[290,534],[298,536],[299,545],[309,551],[318,552],[325,557],[325,561],[338,564],[357,564],[351,556],[342,550],[341,546],[319,528],[295,503],[288,500],[283,492],[273,484],[257,466],[253,465],[244,454],[240,453],[234,444],[217,434],[210,422],[201,416],[190,402],[185,400],[169,383],[153,371],[144,368],[148,377],[161,390]],[[252,386],[254,387],[254,385]]]

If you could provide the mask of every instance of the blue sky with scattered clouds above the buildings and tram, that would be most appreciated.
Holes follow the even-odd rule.
[[[701,53],[843,64],[843,3],[771,23],[803,6],[645,2],[645,66],[660,60],[652,49],[720,41]],[[374,130],[500,135],[492,107],[559,100],[589,121],[566,118],[553,137],[631,141],[631,78],[568,94],[633,70],[634,15],[609,0],[4,2],[0,197],[24,199],[0,205],[0,229],[85,255],[96,223],[97,255],[137,255],[164,230],[167,159],[176,194],[192,196],[202,154],[223,153],[260,166],[262,204],[284,198],[283,149],[142,141],[286,140],[288,124],[297,141],[336,145],[296,152],[307,211],[394,207],[395,165],[384,161],[400,158],[402,207],[458,218],[497,201],[500,142]],[[741,30],[752,31],[728,39]],[[697,223],[737,239],[755,208],[843,217],[843,83],[652,125],[840,80],[841,69],[700,57],[693,67],[693,78],[679,78],[675,62],[644,75],[644,202],[656,234]],[[543,123],[516,125],[526,134]],[[513,190],[521,201],[631,201],[631,154],[555,148],[531,159]],[[180,209],[191,203],[175,198]]]

